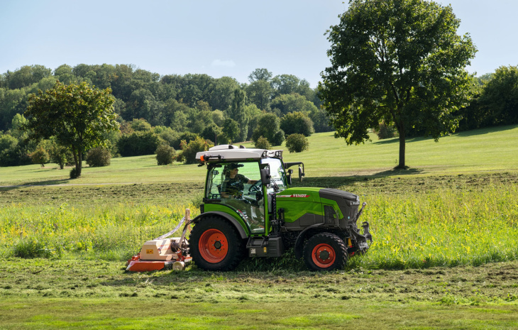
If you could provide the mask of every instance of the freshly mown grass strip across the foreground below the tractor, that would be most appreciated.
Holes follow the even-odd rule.
[[[0,263],[1,329],[515,329],[517,262],[429,270],[124,273]]]

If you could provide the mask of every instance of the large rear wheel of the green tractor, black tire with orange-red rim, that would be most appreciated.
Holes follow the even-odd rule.
[[[189,248],[194,264],[204,270],[233,270],[245,252],[236,228],[217,216],[209,216],[194,225]]]

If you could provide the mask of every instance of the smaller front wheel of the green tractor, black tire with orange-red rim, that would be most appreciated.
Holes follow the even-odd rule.
[[[310,270],[343,269],[347,263],[346,243],[334,233],[317,233],[309,238],[302,255]]]

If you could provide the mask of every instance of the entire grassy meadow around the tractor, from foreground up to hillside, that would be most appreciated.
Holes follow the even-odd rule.
[[[407,171],[392,170],[396,140],[319,133],[285,153],[304,161],[302,185],[368,203],[375,242],[334,273],[291,255],[231,273],[124,273],[185,207],[197,214],[204,167],[116,158],[78,180],[53,165],[0,167],[1,186],[22,186],[0,187],[0,329],[516,329],[517,138],[508,126],[413,139]]]

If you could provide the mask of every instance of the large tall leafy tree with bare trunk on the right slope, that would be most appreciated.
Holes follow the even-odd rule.
[[[368,140],[384,120],[399,133],[405,168],[409,128],[424,128],[436,141],[458,125],[472,82],[465,66],[476,49],[451,6],[425,0],[351,0],[340,23],[327,31],[331,67],[322,72],[320,97],[335,137]]]

